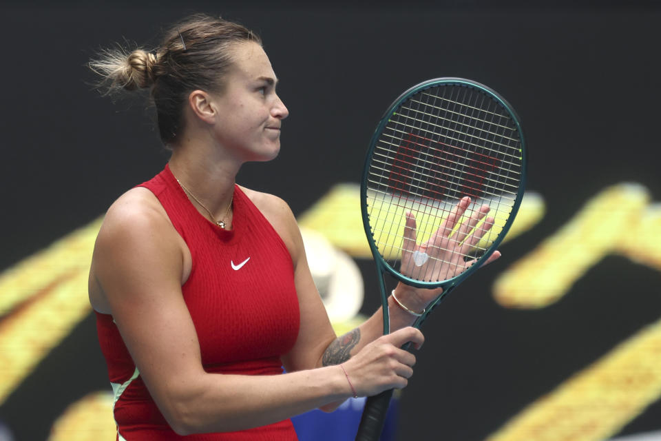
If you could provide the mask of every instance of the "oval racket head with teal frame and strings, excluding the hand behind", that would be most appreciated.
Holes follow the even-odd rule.
[[[443,286],[447,293],[479,268],[507,234],[523,198],[526,163],[520,119],[491,88],[468,79],[438,78],[403,92],[377,125],[361,179],[361,214],[377,267],[408,285]],[[417,243],[423,243],[463,196],[472,199],[467,213],[487,204],[485,218],[494,218],[477,254],[464,257],[472,265],[436,280],[403,274],[397,265],[405,212],[416,217]]]

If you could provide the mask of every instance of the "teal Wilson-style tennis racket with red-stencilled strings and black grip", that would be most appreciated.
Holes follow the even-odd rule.
[[[370,141],[360,192],[384,334],[390,331],[385,275],[443,287],[413,325],[421,327],[505,237],[521,205],[525,164],[518,116],[485,85],[432,79],[388,107]],[[368,398],[356,440],[379,439],[391,396],[392,390]]]

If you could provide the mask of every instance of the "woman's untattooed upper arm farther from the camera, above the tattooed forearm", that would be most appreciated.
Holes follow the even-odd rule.
[[[282,357],[284,367],[287,371],[320,367],[324,351],[330,342],[335,340],[335,331],[330,325],[326,308],[308,267],[303,238],[296,219],[288,205],[280,198],[254,193],[251,198],[282,238],[294,266],[300,329],[293,349]]]

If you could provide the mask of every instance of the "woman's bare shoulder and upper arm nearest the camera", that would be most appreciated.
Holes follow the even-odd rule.
[[[123,196],[105,217],[90,273],[91,287],[100,291],[140,376],[168,420],[173,397],[185,391],[186,379],[203,372],[181,291],[184,257],[179,239],[165,212],[149,204],[149,196]]]

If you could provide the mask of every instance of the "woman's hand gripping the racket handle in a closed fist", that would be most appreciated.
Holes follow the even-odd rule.
[[[407,342],[419,349],[425,338],[419,329],[406,327],[370,342],[343,363],[358,396],[373,396],[402,389],[413,375],[415,356],[401,349]]]

